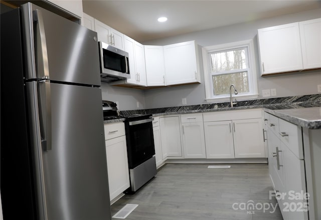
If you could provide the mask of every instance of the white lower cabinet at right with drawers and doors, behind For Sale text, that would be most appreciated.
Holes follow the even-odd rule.
[[[300,127],[267,115],[269,174],[284,220],[307,220],[304,157]],[[272,126],[271,126],[272,124]]]

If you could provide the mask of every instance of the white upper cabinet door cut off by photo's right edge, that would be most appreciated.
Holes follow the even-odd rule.
[[[321,19],[299,22],[303,68],[321,67]]]

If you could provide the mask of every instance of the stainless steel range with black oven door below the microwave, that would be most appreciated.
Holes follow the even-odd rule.
[[[151,114],[121,116],[117,114],[117,105],[103,101],[104,120],[125,118],[127,157],[130,175],[130,189],[135,192],[155,174],[155,147]]]

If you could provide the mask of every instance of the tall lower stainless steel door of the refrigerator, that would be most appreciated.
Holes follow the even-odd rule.
[[[52,147],[41,156],[47,217],[111,219],[101,89],[50,88]]]

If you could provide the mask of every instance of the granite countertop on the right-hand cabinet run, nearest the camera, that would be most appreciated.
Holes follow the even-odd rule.
[[[305,128],[321,129],[321,107],[280,110],[265,108],[264,111]]]

